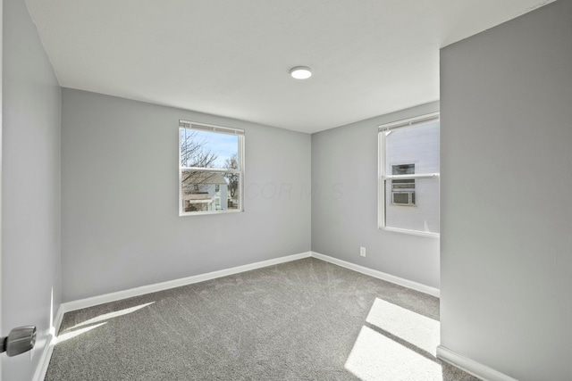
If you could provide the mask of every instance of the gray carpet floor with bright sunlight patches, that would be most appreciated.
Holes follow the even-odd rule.
[[[477,380],[415,343],[438,320],[433,296],[307,258],[68,312],[45,379]]]

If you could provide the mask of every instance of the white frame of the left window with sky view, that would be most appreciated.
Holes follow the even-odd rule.
[[[239,168],[237,170],[226,170],[220,168],[204,168],[204,167],[185,167],[181,165],[181,130],[182,129],[191,129],[197,131],[206,131],[206,132],[214,132],[219,134],[227,134],[227,135],[235,135],[238,137],[238,153],[237,153],[237,162]],[[244,129],[240,128],[229,128],[223,126],[216,126],[213,124],[206,124],[206,123],[199,123],[189,120],[179,120],[179,216],[186,217],[186,216],[204,216],[204,215],[214,215],[214,214],[227,214],[227,213],[240,213],[244,211],[244,172],[245,172],[245,165],[244,165],[244,145],[245,145],[245,133]],[[198,172],[218,172],[218,173],[234,173],[239,175],[239,208],[238,209],[226,209],[221,211],[184,211],[183,210],[183,203],[182,203],[182,171],[183,170],[192,170]]]

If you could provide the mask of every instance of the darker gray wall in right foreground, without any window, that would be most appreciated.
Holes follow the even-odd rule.
[[[572,379],[572,1],[442,49],[442,345]]]

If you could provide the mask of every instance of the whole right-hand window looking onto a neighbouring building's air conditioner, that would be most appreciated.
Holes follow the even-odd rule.
[[[379,226],[439,236],[439,113],[379,128]]]

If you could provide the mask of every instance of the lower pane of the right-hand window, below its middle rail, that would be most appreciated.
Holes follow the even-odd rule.
[[[386,180],[385,226],[439,233],[439,178],[416,178],[414,191],[395,190]]]

